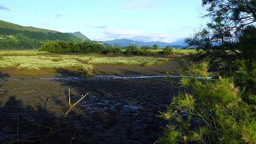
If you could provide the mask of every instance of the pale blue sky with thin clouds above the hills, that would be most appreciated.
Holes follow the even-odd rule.
[[[0,20],[91,40],[175,42],[206,20],[201,0],[1,0]]]

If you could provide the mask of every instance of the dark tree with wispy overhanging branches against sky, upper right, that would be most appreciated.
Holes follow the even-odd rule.
[[[255,28],[253,24],[256,22],[256,1],[202,0],[202,6],[206,5],[210,7],[202,18],[210,18],[210,22],[193,37],[186,38],[188,47],[197,49],[188,58],[193,61],[208,58],[210,65],[223,73],[237,71],[237,59],[256,58],[255,47],[250,47],[250,56],[246,55],[248,46],[244,47],[248,45],[247,42],[255,40],[252,36],[255,31],[250,32],[250,36],[244,34],[249,34],[248,29]]]

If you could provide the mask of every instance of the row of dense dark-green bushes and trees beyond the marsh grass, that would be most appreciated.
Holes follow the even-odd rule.
[[[157,47],[157,45],[155,45]],[[162,48],[162,51],[151,51],[149,46],[141,46],[138,48],[134,45],[129,45],[125,48],[126,55],[155,55],[155,54],[174,54],[173,49],[170,46]],[[39,51],[47,51],[54,53],[98,53],[98,54],[121,54],[121,48],[119,46],[112,46],[103,43],[95,43],[92,41],[84,41],[80,43],[66,42],[66,41],[54,41],[43,44]]]

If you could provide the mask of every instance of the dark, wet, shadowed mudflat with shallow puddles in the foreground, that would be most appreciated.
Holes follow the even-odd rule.
[[[180,73],[177,63],[150,67],[96,65],[95,75],[160,76]],[[176,66],[175,66],[176,65]],[[44,135],[69,108],[89,92],[51,136],[30,138],[42,144],[154,144],[168,123],[158,118],[177,95],[179,78],[111,79],[83,76],[76,70],[48,70],[46,75],[24,75],[2,69],[0,86],[0,143],[17,143],[30,136]],[[79,75],[80,74],[80,75]],[[75,76],[71,79],[62,79]],[[47,79],[59,78],[59,79]],[[53,111],[58,110],[58,111]],[[30,124],[32,123],[32,124]],[[76,132],[76,134],[75,134]],[[75,135],[74,135],[75,134]],[[29,141],[31,143],[33,141]],[[25,141],[23,142],[25,143]]]

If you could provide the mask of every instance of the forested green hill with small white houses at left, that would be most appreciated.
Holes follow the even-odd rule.
[[[0,49],[38,49],[45,42],[56,40],[82,42],[70,34],[0,20]]]

